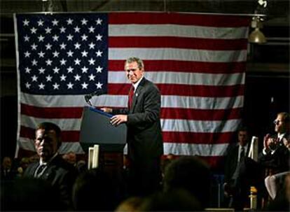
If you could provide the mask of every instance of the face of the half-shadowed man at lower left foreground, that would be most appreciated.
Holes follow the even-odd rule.
[[[54,130],[38,129],[34,146],[41,159],[46,162],[57,152],[58,138]]]

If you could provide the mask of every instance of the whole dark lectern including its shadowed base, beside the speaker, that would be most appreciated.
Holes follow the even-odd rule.
[[[104,168],[113,178],[121,178],[123,169],[123,149],[127,139],[125,124],[114,127],[110,123],[113,115],[96,108],[85,106],[81,120],[81,147],[99,145],[99,167]]]

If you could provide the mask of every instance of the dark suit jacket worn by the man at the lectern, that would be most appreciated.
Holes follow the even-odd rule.
[[[114,109],[113,114],[127,114],[127,147],[132,161],[160,157],[163,139],[160,127],[160,91],[142,78],[134,92],[130,111]]]

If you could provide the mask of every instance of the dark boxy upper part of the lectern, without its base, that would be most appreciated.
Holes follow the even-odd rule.
[[[96,108],[85,106],[81,120],[80,143],[83,150],[99,144],[104,152],[122,152],[126,143],[127,126],[125,124],[114,127],[110,123],[112,117]]]

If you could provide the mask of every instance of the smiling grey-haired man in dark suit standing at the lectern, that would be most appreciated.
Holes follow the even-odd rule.
[[[112,125],[127,125],[129,190],[132,195],[148,195],[158,188],[161,180],[160,156],[163,154],[163,141],[160,91],[144,78],[144,63],[141,59],[127,59],[125,73],[132,83],[128,107],[102,110],[113,113]]]

